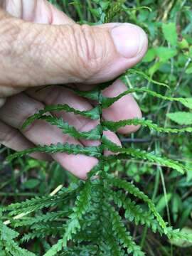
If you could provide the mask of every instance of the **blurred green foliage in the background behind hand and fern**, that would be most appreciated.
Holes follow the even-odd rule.
[[[80,23],[85,23],[85,21],[90,21],[91,23],[105,21],[105,16],[102,15],[102,13],[105,13],[105,6],[107,8],[108,1],[51,2],[57,4],[58,8],[63,9],[65,13],[69,16],[73,16],[73,18],[75,18],[76,21],[80,21]],[[127,8],[125,8],[125,6]],[[142,6],[149,7],[151,11],[138,8]],[[142,63],[137,66],[137,72],[134,70],[124,77],[128,89],[135,87],[138,89],[142,87],[146,88],[146,91],[142,93],[139,93],[139,91],[134,92],[134,97],[142,107],[144,117],[152,120],[154,123],[158,124],[158,127],[163,127],[164,129],[167,127],[181,129],[183,124],[187,124],[190,127],[192,124],[191,1],[125,1],[124,11],[110,18],[114,21],[137,23],[137,25],[142,26],[149,35],[149,51],[146,57]],[[169,88],[154,83],[153,80],[169,85]],[[164,97],[151,97],[147,90],[153,90],[154,92],[164,95],[164,97],[187,97],[189,99],[188,102],[184,102],[184,105],[181,105],[180,102],[177,101],[167,101]],[[190,170],[192,168],[191,134],[161,134],[160,132],[161,130],[158,131],[157,129],[157,132],[154,132],[154,129],[151,129],[149,133],[149,129],[142,127],[137,134],[132,134],[131,137],[122,137],[122,143],[126,148],[131,146],[132,149],[139,148],[146,151],[154,151],[155,155],[163,155],[170,159],[179,160],[186,169]],[[8,149],[1,148],[2,160],[9,154]],[[187,174],[183,176],[169,167],[161,166],[161,163],[151,165],[148,160],[144,161],[143,159],[113,161],[109,168],[110,173],[126,181],[131,181],[137,185],[141,191],[144,191],[144,193],[152,199],[156,205],[156,209],[169,225],[174,226],[174,228],[184,228],[188,233],[192,233],[191,171],[187,171]],[[60,194],[62,195],[63,193],[63,196],[68,196],[68,184],[73,184],[72,187],[69,187],[70,192],[74,191],[74,193],[76,193],[74,184],[78,183],[75,177],[63,171],[58,164],[47,164],[28,158],[16,159],[11,164],[2,161],[1,174],[0,196],[2,206],[24,201],[26,198],[33,198],[34,196],[48,195],[60,185],[61,180],[63,180],[63,185],[66,189],[61,189]],[[120,180],[119,183],[121,183]],[[122,186],[123,185],[124,184],[122,184]],[[97,192],[96,188],[95,191]],[[124,195],[121,194],[120,191],[118,193],[118,198],[121,197],[122,201],[124,201]],[[95,197],[97,196],[96,193]],[[84,207],[86,201],[89,201],[86,195],[84,195],[83,198],[82,207]],[[118,198],[115,202],[117,205],[121,204]],[[130,200],[131,199],[132,197]],[[32,229],[35,230],[36,233],[34,237],[38,237],[37,233],[44,233],[46,239],[41,238],[40,235],[40,238],[35,238],[28,242],[27,235],[23,236],[24,233],[28,233],[27,222],[32,221],[30,218],[23,218],[20,225],[19,222],[13,223],[13,226],[18,226],[16,230],[20,233],[21,239],[23,239],[21,241],[24,241],[21,243],[21,247],[35,252],[36,255],[43,255],[43,253],[50,248],[50,245],[55,244],[57,241],[55,238],[57,238],[58,233],[55,233],[55,238],[53,238],[53,236],[49,237],[48,231],[52,228],[53,230],[49,232],[53,235],[54,229],[58,230],[57,227],[61,227],[60,223],[63,222],[63,218],[65,220],[63,215],[61,215],[60,219],[58,218],[59,212],[54,215],[54,205],[49,204],[50,199],[46,201],[47,198],[44,198],[43,200],[45,205],[43,205],[41,201],[41,207],[39,206],[36,210],[41,211],[43,206],[48,206],[50,210],[48,210],[48,212],[43,212],[42,210],[41,213],[49,214],[46,215],[48,220],[54,220],[56,216],[57,220],[54,223],[55,226],[50,227],[48,223],[43,225],[42,220],[38,219],[37,223],[33,223]],[[130,209],[131,202],[127,202],[129,203]],[[141,203],[139,199],[135,202]],[[59,198],[57,203],[59,203]],[[35,205],[37,206],[36,203],[27,206],[28,210],[30,211],[30,207],[34,207]],[[66,215],[71,214],[70,204],[64,204],[63,206],[65,206]],[[110,208],[111,206],[104,204],[103,207],[103,212],[106,214],[110,212],[113,219],[116,219],[117,222],[119,221],[119,217],[115,215],[114,210]],[[10,207],[10,210],[12,215],[22,213],[22,209],[21,212],[19,212],[19,210],[17,211],[16,205],[14,205],[14,208]],[[83,210],[86,209],[82,209],[82,211]],[[144,205],[142,205],[142,210],[146,210]],[[134,218],[136,213],[139,213],[139,209],[135,211]],[[75,214],[78,213],[76,212]],[[122,213],[121,210],[119,211],[119,216],[120,218],[124,218],[123,210]],[[133,218],[130,217],[130,212],[127,213],[127,216],[129,216],[127,227],[129,228],[130,234],[134,238],[134,241],[146,252],[146,255],[191,255],[191,242],[186,242],[182,239],[174,239],[170,242],[166,236],[160,237],[158,233],[152,233],[149,229],[151,224],[145,227],[142,225],[134,225],[134,223],[132,223]],[[7,218],[7,215],[2,215],[1,217],[2,220],[7,220]],[[146,221],[146,218],[147,215],[145,215],[143,221]],[[136,219],[135,222],[137,224],[141,223],[139,216],[138,220]],[[149,219],[149,223],[152,223],[151,219]],[[1,233],[1,240],[6,241],[14,238],[17,240],[18,233],[16,233],[16,231],[11,231],[4,225],[1,226],[1,230],[4,231]],[[60,232],[62,232],[62,230]],[[114,240],[111,241],[111,243],[113,242]],[[126,241],[124,242],[126,243]],[[21,253],[25,255],[26,253],[19,251],[20,249],[18,249],[17,252],[16,245],[9,244],[6,246],[13,247],[14,252],[6,252],[7,254],[4,255],[9,255],[9,253],[10,255],[22,255]],[[97,255],[95,250],[94,246],[90,247],[90,252],[83,252],[83,250],[82,252],[78,252],[77,248],[76,255]],[[92,254],[89,254],[91,252]],[[114,255],[118,255],[118,252],[115,253]],[[69,254],[65,255],[72,255],[72,252],[69,251]]]

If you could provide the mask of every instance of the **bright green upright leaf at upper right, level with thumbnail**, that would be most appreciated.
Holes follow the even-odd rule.
[[[164,38],[168,41],[171,46],[176,46],[177,44],[177,32],[176,23],[164,23],[162,25],[162,31],[164,33]]]

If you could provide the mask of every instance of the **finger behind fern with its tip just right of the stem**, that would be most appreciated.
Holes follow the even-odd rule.
[[[30,97],[43,102],[45,105],[58,105],[58,104],[67,104],[70,107],[73,107],[77,110],[91,110],[92,105],[87,100],[75,95],[75,93],[65,87],[47,87],[43,90],[37,92],[36,88],[31,88],[26,91]],[[51,95],[51,97],[50,97]],[[90,120],[86,117],[81,117],[73,113],[67,112],[58,112],[54,114],[58,117],[62,117],[65,122],[73,125],[80,132],[89,132],[91,129],[94,129],[99,120]],[[112,140],[112,142],[121,144],[119,139],[114,132],[105,132],[105,135]],[[84,146],[97,146],[100,144],[99,141],[90,141],[85,139],[80,139],[80,142]]]

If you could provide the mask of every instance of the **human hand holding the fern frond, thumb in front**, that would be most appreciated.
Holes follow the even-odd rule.
[[[16,151],[34,144],[99,144],[77,141],[43,120],[36,120],[24,131],[21,125],[45,105],[68,104],[79,110],[90,110],[91,102],[78,97],[72,90],[54,86],[37,92],[36,86],[65,83],[87,90],[91,85],[112,80],[144,56],[147,48],[144,31],[129,23],[79,26],[46,0],[7,0],[0,1],[0,6],[1,144]],[[23,90],[25,92],[21,92]],[[103,94],[114,97],[124,90],[127,87],[117,80]],[[73,113],[60,112],[58,116],[80,131],[89,131],[98,124],[98,121]],[[103,118],[112,121],[141,116],[132,95],[122,97],[103,110]],[[129,134],[137,129],[127,126],[118,132]],[[105,134],[120,144],[116,134]],[[33,154],[33,157],[55,159],[80,178],[85,178],[97,164],[97,159],[84,155]]]

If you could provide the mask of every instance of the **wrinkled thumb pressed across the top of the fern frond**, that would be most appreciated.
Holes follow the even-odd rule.
[[[59,26],[7,17],[0,21],[0,41],[0,84],[18,86],[110,80],[147,48],[142,28],[130,23]]]

